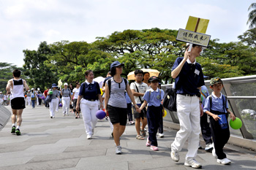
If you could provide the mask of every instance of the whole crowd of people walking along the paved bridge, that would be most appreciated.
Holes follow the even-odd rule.
[[[227,159],[223,147],[229,139],[230,131],[228,126],[223,128],[219,122],[221,122],[222,115],[226,120],[227,114],[230,114],[232,120],[235,120],[236,117],[228,109],[225,96],[221,93],[223,84],[219,77],[211,79],[210,88],[213,90],[211,95],[204,86],[203,71],[200,64],[196,62],[202,47],[192,45],[192,50],[188,49],[187,47],[184,57],[176,59],[171,72],[171,77],[175,79],[180,130],[171,144],[170,157],[173,161],[178,162],[179,152],[184,147],[184,143],[188,142],[184,165],[192,166],[195,169],[200,168],[201,164],[195,158],[200,147],[199,136],[202,131],[206,150],[212,152],[218,163],[229,164],[231,161]],[[121,77],[123,67],[124,63],[118,61],[111,63],[110,72],[108,72],[102,87],[94,81],[94,72],[87,70],[86,80],[81,85],[80,82],[76,82],[76,86],[73,88],[66,82],[64,88],[58,90],[58,85],[53,83],[44,93],[41,93],[39,88],[37,90],[31,88],[30,91],[26,81],[20,79],[20,71],[15,70],[13,72],[14,79],[9,80],[7,84],[7,92],[12,94],[10,96],[13,113],[11,132],[20,135],[21,114],[26,103],[31,104],[34,108],[35,104],[41,104],[42,99],[45,98],[45,107],[50,108],[50,118],[55,117],[60,102],[64,116],[72,111],[77,119],[81,112],[87,139],[93,139],[94,128],[97,124],[97,111],[105,110],[106,119],[110,122],[113,141],[116,144],[116,154],[121,154],[120,139],[124,134],[127,119],[128,123],[133,125],[133,117],[135,119],[135,139],[146,139],[146,147],[153,151],[159,150],[157,132],[159,131],[159,137],[164,136],[162,100],[165,92],[161,89],[161,80],[159,77],[150,76],[148,72],[137,69],[135,70],[135,82],[129,85],[129,81]],[[26,102],[23,88],[27,90]],[[47,98],[50,100],[47,101]],[[210,116],[210,125],[207,122],[207,115]],[[148,127],[147,138],[146,126]]]

